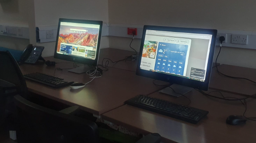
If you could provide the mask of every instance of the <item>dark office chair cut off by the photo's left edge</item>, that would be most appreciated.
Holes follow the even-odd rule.
[[[9,51],[0,51],[0,125],[15,112],[14,95],[27,95],[23,74]],[[7,110],[6,110],[7,109]]]

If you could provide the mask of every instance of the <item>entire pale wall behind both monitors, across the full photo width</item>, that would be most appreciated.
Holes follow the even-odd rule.
[[[255,5],[255,0],[0,1],[0,22],[28,24],[30,32],[29,40],[0,36],[0,46],[22,50],[28,43],[32,43],[45,46],[43,56],[51,56],[55,42],[36,43],[35,26],[56,26],[58,18],[101,20],[115,24],[256,31]],[[140,41],[141,39],[134,39],[132,47],[139,50]],[[101,48],[132,51],[129,48],[130,42],[131,38],[102,37]],[[219,62],[256,68],[255,55],[256,50],[224,47]]]

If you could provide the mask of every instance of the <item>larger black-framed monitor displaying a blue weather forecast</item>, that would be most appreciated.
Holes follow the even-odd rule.
[[[136,74],[208,90],[216,34],[212,29],[144,26]]]

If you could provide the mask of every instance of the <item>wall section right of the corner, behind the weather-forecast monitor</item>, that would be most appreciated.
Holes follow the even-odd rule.
[[[109,23],[115,24],[256,31],[255,5],[255,0],[108,0],[108,12]],[[131,38],[109,37],[111,48],[132,51],[130,42]],[[133,47],[139,46],[137,39]],[[218,62],[256,69],[255,55],[256,50],[222,48]]]

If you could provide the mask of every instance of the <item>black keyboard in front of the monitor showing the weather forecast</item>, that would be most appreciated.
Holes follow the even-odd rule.
[[[193,124],[198,123],[209,113],[209,111],[183,106],[144,95],[134,97],[131,100],[126,101],[126,103],[131,106],[136,106]]]

